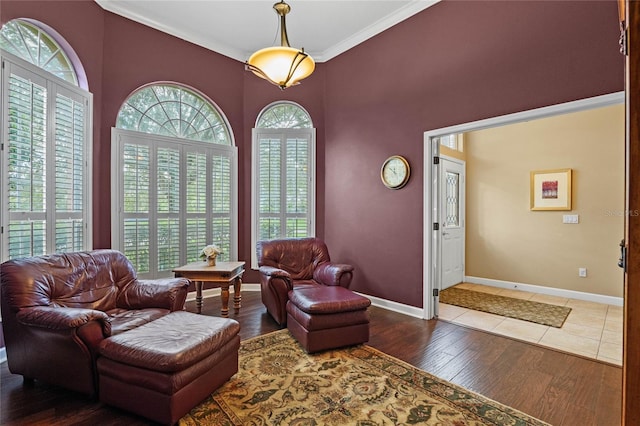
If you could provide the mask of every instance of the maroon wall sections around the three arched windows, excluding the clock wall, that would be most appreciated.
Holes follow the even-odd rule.
[[[91,0],[2,1],[0,22],[31,18],[60,33],[85,67],[94,95],[93,246],[111,246],[111,128],[122,102],[140,86],[175,81],[210,97],[231,124],[238,146],[239,258],[251,259],[251,127],[269,103],[287,99],[307,109],[318,128],[318,232],[324,205],[322,65],[286,92],[244,71],[241,62],[110,12]],[[253,271],[245,281],[258,282]]]

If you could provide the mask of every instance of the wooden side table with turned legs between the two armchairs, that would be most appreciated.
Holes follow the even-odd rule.
[[[205,282],[214,283],[214,288],[220,288],[222,298],[222,316],[229,316],[229,286],[233,285],[233,308],[240,311],[242,301],[241,287],[244,262],[216,262],[215,266],[208,266],[207,262],[193,262],[173,270],[176,277],[184,277],[196,286],[196,311],[202,312],[202,285]]]

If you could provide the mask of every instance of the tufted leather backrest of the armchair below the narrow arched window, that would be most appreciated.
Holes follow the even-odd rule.
[[[327,245],[319,238],[284,238],[260,241],[258,265],[284,269],[293,280],[310,280],[313,271],[329,262]]]

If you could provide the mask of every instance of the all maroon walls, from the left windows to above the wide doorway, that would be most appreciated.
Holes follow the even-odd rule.
[[[154,81],[190,85],[220,106],[239,154],[239,258],[251,245],[251,128],[286,99],[317,128],[317,234],[357,268],[353,288],[422,306],[423,132],[623,90],[613,1],[443,2],[319,64],[280,91],[242,63],[103,11],[90,0],[2,1],[58,31],[94,94],[94,246],[110,246],[111,127],[126,97]],[[399,191],[380,166],[412,166]],[[257,282],[248,271],[245,282]]]

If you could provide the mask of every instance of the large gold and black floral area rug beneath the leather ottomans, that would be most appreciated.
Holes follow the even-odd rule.
[[[307,354],[280,330],[242,342],[239,370],[190,425],[547,425],[366,345]]]

